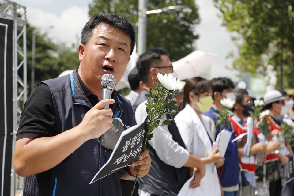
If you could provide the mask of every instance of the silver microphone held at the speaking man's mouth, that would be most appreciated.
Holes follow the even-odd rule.
[[[104,74],[101,78],[102,100],[110,99],[113,88],[115,87],[115,77],[112,74]],[[109,108],[109,104],[104,109]]]

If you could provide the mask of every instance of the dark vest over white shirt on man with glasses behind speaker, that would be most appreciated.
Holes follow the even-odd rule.
[[[146,93],[148,93],[148,91],[144,90],[139,94],[133,106],[133,111],[136,110],[139,104],[148,99],[145,96]],[[171,115],[167,115],[167,118],[173,119]],[[168,125],[168,130],[171,133],[173,140],[186,149],[175,121],[172,120],[170,123],[171,124]],[[143,178],[139,178],[140,189],[158,196],[178,195],[184,183],[186,183],[189,179],[190,168],[182,167],[178,169],[165,164],[162,160],[160,160],[156,151],[151,147],[151,145],[149,145],[148,142],[146,144],[146,149],[149,150],[152,162],[149,173]]]

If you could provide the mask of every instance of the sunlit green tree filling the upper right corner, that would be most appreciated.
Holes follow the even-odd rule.
[[[282,63],[283,88],[294,87],[294,1],[213,1],[239,51],[228,55],[235,59],[233,67],[254,74],[265,73],[273,65],[280,74]]]

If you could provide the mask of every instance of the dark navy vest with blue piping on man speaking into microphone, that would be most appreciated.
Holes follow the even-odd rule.
[[[48,85],[52,94],[56,113],[57,134],[81,123],[85,113],[91,108],[79,91],[79,89],[82,91],[82,88],[76,72],[77,70],[74,70],[73,74],[43,82]],[[116,91],[112,93],[112,98],[115,99],[115,104],[111,106],[114,112],[113,115],[115,115],[116,108],[119,105],[118,102],[123,105],[121,119],[124,129],[134,126],[130,102]],[[112,150],[102,146],[101,152],[100,157],[103,165],[109,159]],[[24,195],[97,196],[99,195],[98,181],[92,184],[89,183],[98,172],[98,160],[99,144],[96,139],[88,140],[54,168],[26,177]],[[122,195],[120,178],[125,171],[123,169],[101,179],[101,196]],[[46,176],[46,179],[44,176]],[[47,176],[50,178],[48,179]]]

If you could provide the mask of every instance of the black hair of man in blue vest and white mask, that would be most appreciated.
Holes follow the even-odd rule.
[[[223,92],[224,90],[235,88],[233,81],[227,77],[213,78],[210,81],[210,84],[212,88],[212,94],[214,94],[214,92]],[[214,96],[212,96],[212,98],[214,100]]]

